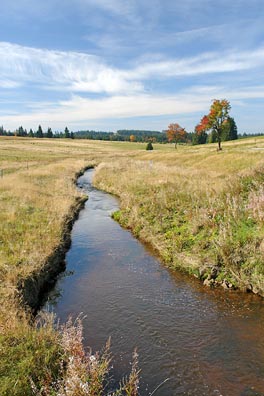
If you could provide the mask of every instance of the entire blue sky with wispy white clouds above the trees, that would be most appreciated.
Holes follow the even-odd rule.
[[[264,132],[264,0],[0,0],[0,125]]]

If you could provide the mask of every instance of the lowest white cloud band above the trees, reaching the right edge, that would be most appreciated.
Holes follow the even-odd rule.
[[[264,99],[264,86],[230,91],[223,87],[201,86],[189,88],[177,95],[139,93],[101,99],[87,99],[75,95],[70,100],[60,101],[57,104],[43,103],[35,108],[29,106],[27,112],[1,117],[1,122],[8,128],[17,128],[21,124],[29,128],[41,123],[45,128],[52,125],[62,129],[65,124],[85,124],[89,127],[89,124],[95,120],[108,120],[110,129],[111,120],[114,119],[153,118],[167,115],[172,120],[177,119],[181,123],[181,119],[187,115],[193,116],[193,114],[198,114],[196,117],[198,122],[199,118],[208,112],[214,97],[225,97],[232,101],[234,107],[241,107],[249,99]]]

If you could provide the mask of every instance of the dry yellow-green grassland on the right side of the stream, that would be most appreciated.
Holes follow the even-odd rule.
[[[263,295],[263,142],[140,153],[101,163],[95,183],[121,197],[115,217],[167,265],[198,277],[217,267],[214,283]]]

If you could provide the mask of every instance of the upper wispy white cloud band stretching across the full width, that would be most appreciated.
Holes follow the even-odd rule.
[[[99,57],[79,52],[50,51],[0,43],[0,85],[34,84],[45,89],[107,94],[144,90],[148,79],[232,73],[264,66],[264,48],[252,51],[205,53],[181,59],[160,59],[124,70]]]

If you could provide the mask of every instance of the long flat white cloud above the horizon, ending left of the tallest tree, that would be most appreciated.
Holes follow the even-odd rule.
[[[58,103],[53,109],[44,105],[42,110],[3,116],[1,122],[9,128],[16,128],[18,124],[29,128],[39,123],[44,127],[55,125],[62,128],[65,124],[89,124],[92,120],[182,114],[199,111],[202,107],[201,100],[181,101],[181,98],[175,96],[140,94],[103,99],[74,96],[69,101]]]

